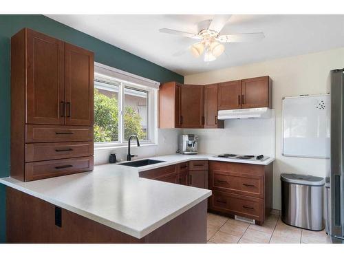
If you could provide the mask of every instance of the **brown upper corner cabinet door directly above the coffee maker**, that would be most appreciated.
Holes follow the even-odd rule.
[[[183,128],[204,127],[204,86],[180,87],[180,124]]]

